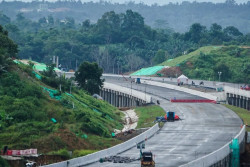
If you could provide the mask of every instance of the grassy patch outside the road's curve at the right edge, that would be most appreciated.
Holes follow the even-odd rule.
[[[244,122],[245,125],[250,124],[250,112],[246,109],[235,107],[232,105],[225,104],[227,108],[234,111]],[[250,132],[250,127],[246,127],[246,131]]]

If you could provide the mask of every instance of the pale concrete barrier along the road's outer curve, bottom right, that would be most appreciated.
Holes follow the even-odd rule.
[[[245,126],[241,128],[240,132],[234,137],[234,139],[238,139],[241,149],[243,149],[245,143]],[[229,144],[231,144],[231,141],[218,150],[180,167],[209,167],[223,161],[231,153]],[[243,152],[243,150],[241,152]]]

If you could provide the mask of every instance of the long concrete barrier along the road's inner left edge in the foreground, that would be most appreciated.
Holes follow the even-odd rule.
[[[99,161],[100,158],[113,156],[113,155],[122,153],[122,152],[124,152],[132,147],[136,147],[137,143],[140,143],[140,142],[145,141],[146,139],[152,137],[158,130],[159,130],[159,126],[158,126],[158,124],[155,124],[153,127],[151,127],[149,130],[145,131],[144,133],[142,133],[142,134],[140,134],[140,135],[124,142],[124,143],[113,146],[111,148],[101,150],[101,151],[98,151],[96,153],[89,154],[89,155],[86,155],[83,157],[74,158],[74,159],[71,159],[68,161],[63,161],[63,162],[59,162],[59,163],[45,165],[43,167],[78,167],[78,166],[82,166],[82,165],[91,164],[91,163]],[[139,155],[139,151],[138,151],[138,155]]]

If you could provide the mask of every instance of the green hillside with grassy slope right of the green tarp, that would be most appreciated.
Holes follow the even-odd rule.
[[[250,83],[250,47],[206,46],[160,65],[179,67],[192,79]],[[167,70],[163,73],[167,73]]]

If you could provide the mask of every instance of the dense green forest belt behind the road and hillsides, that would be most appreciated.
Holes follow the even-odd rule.
[[[209,27],[194,23],[185,33],[153,29],[137,12],[106,12],[97,23],[74,18],[63,21],[52,15],[32,21],[18,13],[14,20],[0,14],[0,24],[18,44],[19,58],[50,64],[58,56],[65,70],[76,70],[83,61],[97,62],[105,73],[124,73],[159,64],[207,45],[247,45],[250,34],[236,27]]]

